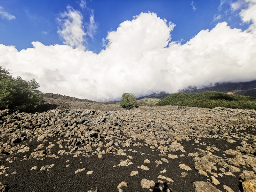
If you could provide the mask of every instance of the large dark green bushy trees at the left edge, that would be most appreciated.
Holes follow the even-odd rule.
[[[25,81],[21,77],[13,78],[9,70],[0,66],[0,110],[34,111],[43,101],[43,93],[38,89],[35,79]]]

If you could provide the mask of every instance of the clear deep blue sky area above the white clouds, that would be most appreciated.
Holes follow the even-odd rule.
[[[241,25],[239,10],[230,10],[231,2],[92,0],[86,1],[84,7],[81,7],[81,1],[78,0],[1,0],[0,6],[16,19],[0,19],[0,44],[14,45],[18,51],[33,47],[33,41],[39,41],[44,45],[63,44],[57,33],[59,24],[56,18],[67,10],[68,5],[82,13],[84,26],[90,22],[90,15],[93,12],[97,30],[93,37],[85,36],[88,42],[87,50],[92,52],[99,53],[104,48],[102,39],[106,38],[109,31],[116,30],[125,20],[132,20],[133,16],[148,11],[174,23],[176,26],[171,33],[172,41],[183,39],[181,43],[184,44],[199,31],[211,30],[218,22],[226,21],[231,28],[248,28],[248,24]],[[221,18],[214,20],[218,15]]]

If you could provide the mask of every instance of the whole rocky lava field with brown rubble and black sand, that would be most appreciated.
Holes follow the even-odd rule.
[[[119,191],[238,192],[256,179],[255,110],[127,111],[116,102],[50,96],[52,110],[0,111],[4,190],[117,191],[125,182]]]

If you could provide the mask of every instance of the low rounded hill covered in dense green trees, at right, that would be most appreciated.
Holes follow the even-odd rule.
[[[159,101],[156,105],[177,105],[186,107],[215,108],[225,107],[233,109],[256,109],[256,98],[242,95],[208,91],[203,93],[174,93]]]

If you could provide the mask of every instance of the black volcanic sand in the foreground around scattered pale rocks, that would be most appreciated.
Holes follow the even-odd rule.
[[[244,132],[248,132],[247,130],[244,130]],[[65,138],[60,137],[60,139],[64,140]],[[55,146],[52,148],[51,154],[57,154],[59,158],[52,158],[52,157],[45,157],[44,160],[36,160],[36,158],[31,158],[28,160],[22,160],[24,159],[23,156],[27,155],[30,156],[31,151],[34,151],[34,149],[43,142],[37,142],[35,140],[25,140],[23,142],[20,142],[20,145],[27,144],[28,147],[30,147],[30,151],[25,153],[18,153],[18,154],[12,154],[12,156],[15,155],[15,157],[18,157],[18,159],[13,160],[12,163],[8,163],[6,159],[11,155],[1,155],[0,157],[0,163],[1,165],[4,165],[4,167],[9,167],[6,169],[5,173],[0,175],[0,182],[7,184],[9,187],[8,191],[118,191],[117,186],[122,181],[125,181],[127,183],[127,187],[122,187],[122,190],[125,191],[149,191],[147,188],[142,188],[140,185],[140,182],[142,179],[148,179],[148,180],[154,180],[155,183],[158,180],[158,175],[164,175],[166,177],[171,178],[174,180],[174,182],[168,182],[168,186],[172,188],[173,191],[195,191],[193,188],[193,182],[195,181],[207,181],[207,179],[211,179],[211,174],[208,172],[208,176],[206,177],[204,175],[198,174],[198,171],[195,170],[195,161],[193,160],[192,156],[188,156],[188,153],[195,153],[198,150],[196,148],[200,148],[203,150],[206,150],[206,147],[214,145],[216,148],[220,149],[220,151],[214,151],[212,152],[213,155],[221,156],[223,158],[229,158],[234,157],[227,155],[223,156],[224,151],[228,149],[236,150],[236,146],[238,143],[240,143],[242,140],[237,138],[232,138],[233,140],[236,140],[236,143],[228,143],[226,142],[227,138],[219,139],[219,138],[198,138],[199,142],[202,143],[200,145],[199,143],[195,143],[194,137],[190,136],[189,141],[182,140],[178,141],[186,152],[167,152],[172,155],[177,155],[178,159],[171,159],[165,156],[159,156],[159,150],[157,148],[153,149],[147,146],[136,147],[136,146],[130,146],[125,147],[122,149],[126,149],[124,153],[126,153],[126,156],[117,156],[113,153],[106,153],[102,155],[102,158],[98,158],[97,155],[92,155],[91,157],[87,156],[78,156],[73,157],[72,154],[68,155],[58,155],[59,150],[68,150],[68,148],[59,148],[58,144],[56,144],[58,140],[58,137],[52,137],[49,138],[47,142],[44,142],[46,146],[48,146],[49,142],[52,142],[52,144],[55,144]],[[201,139],[201,140],[200,140]],[[143,142],[141,142],[143,143]],[[248,141],[249,143],[249,141]],[[171,143],[170,143],[171,144]],[[206,145],[204,145],[206,144]],[[82,145],[78,146],[82,147]],[[31,150],[32,149],[32,150]],[[96,147],[93,147],[93,151],[95,151]],[[102,147],[101,150],[105,150],[106,148]],[[132,149],[132,151],[128,151],[129,149]],[[134,152],[135,150],[136,152]],[[141,155],[142,153],[145,153],[144,155]],[[92,154],[92,152],[88,153],[89,155]],[[185,156],[180,156],[185,155]],[[244,154],[242,154],[244,155]],[[126,160],[128,157],[132,156],[133,164],[129,166],[116,166],[118,165],[121,160]],[[169,163],[163,162],[163,164],[159,164],[158,167],[156,167],[156,163],[154,163],[156,160],[161,160],[161,158],[168,159]],[[148,159],[150,163],[145,163],[144,160]],[[69,160],[69,162],[67,162]],[[54,164],[52,168],[43,171],[39,171],[40,168],[44,165],[51,165]],[[66,167],[66,165],[68,165]],[[180,169],[179,164],[185,164],[192,168],[190,171],[186,171],[183,169]],[[149,168],[148,171],[142,170],[138,168],[140,165],[145,165]],[[37,166],[36,170],[30,169],[34,166]],[[216,173],[222,173],[219,168],[218,164],[215,165],[218,170],[212,171]],[[78,169],[85,168],[84,171],[78,172],[75,174],[75,171]],[[241,172],[243,170],[249,170],[252,171],[252,167],[239,167],[241,169]],[[166,169],[165,173],[160,173],[160,171],[163,171]],[[17,174],[11,174],[12,172],[16,171]],[[93,171],[91,175],[87,175],[86,173],[88,171]],[[134,176],[130,176],[132,171],[138,171],[139,173]],[[182,177],[181,172],[186,172],[188,175],[185,177]],[[216,179],[220,181],[220,185],[214,185],[217,189],[220,189],[221,191],[225,191],[223,189],[223,185],[227,185],[228,187],[232,188],[234,192],[238,192],[239,190],[242,191],[240,187],[239,182],[239,174],[241,172],[235,172],[233,173],[234,176],[228,176],[224,175],[223,177],[217,177]],[[9,174],[8,176],[5,176],[5,174]],[[166,180],[163,180],[166,181]],[[208,180],[209,181],[209,180]],[[211,182],[211,181],[209,181]],[[151,187],[153,189],[153,187]]]

